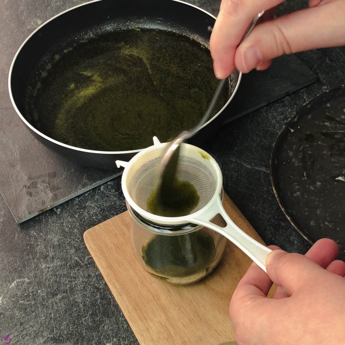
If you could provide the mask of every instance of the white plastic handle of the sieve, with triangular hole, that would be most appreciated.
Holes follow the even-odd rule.
[[[220,214],[226,221],[227,225],[224,228],[210,222],[210,219],[213,219],[217,214]],[[266,258],[272,250],[242,231],[228,216],[220,198],[207,212],[197,217],[187,216],[187,218],[190,223],[205,226],[229,239],[266,272]]]

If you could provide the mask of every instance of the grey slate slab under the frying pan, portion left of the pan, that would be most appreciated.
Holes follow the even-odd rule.
[[[0,32],[5,33],[0,37],[0,186],[18,223],[119,174],[117,170],[80,167],[41,145],[16,115],[7,88],[11,61],[21,42],[53,15],[80,3],[0,2]]]

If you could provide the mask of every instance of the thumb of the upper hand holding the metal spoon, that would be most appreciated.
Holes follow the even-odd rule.
[[[267,62],[283,54],[342,46],[341,9],[345,10],[345,2],[330,2],[259,24],[237,48],[235,66],[247,73],[258,66],[268,67]]]

